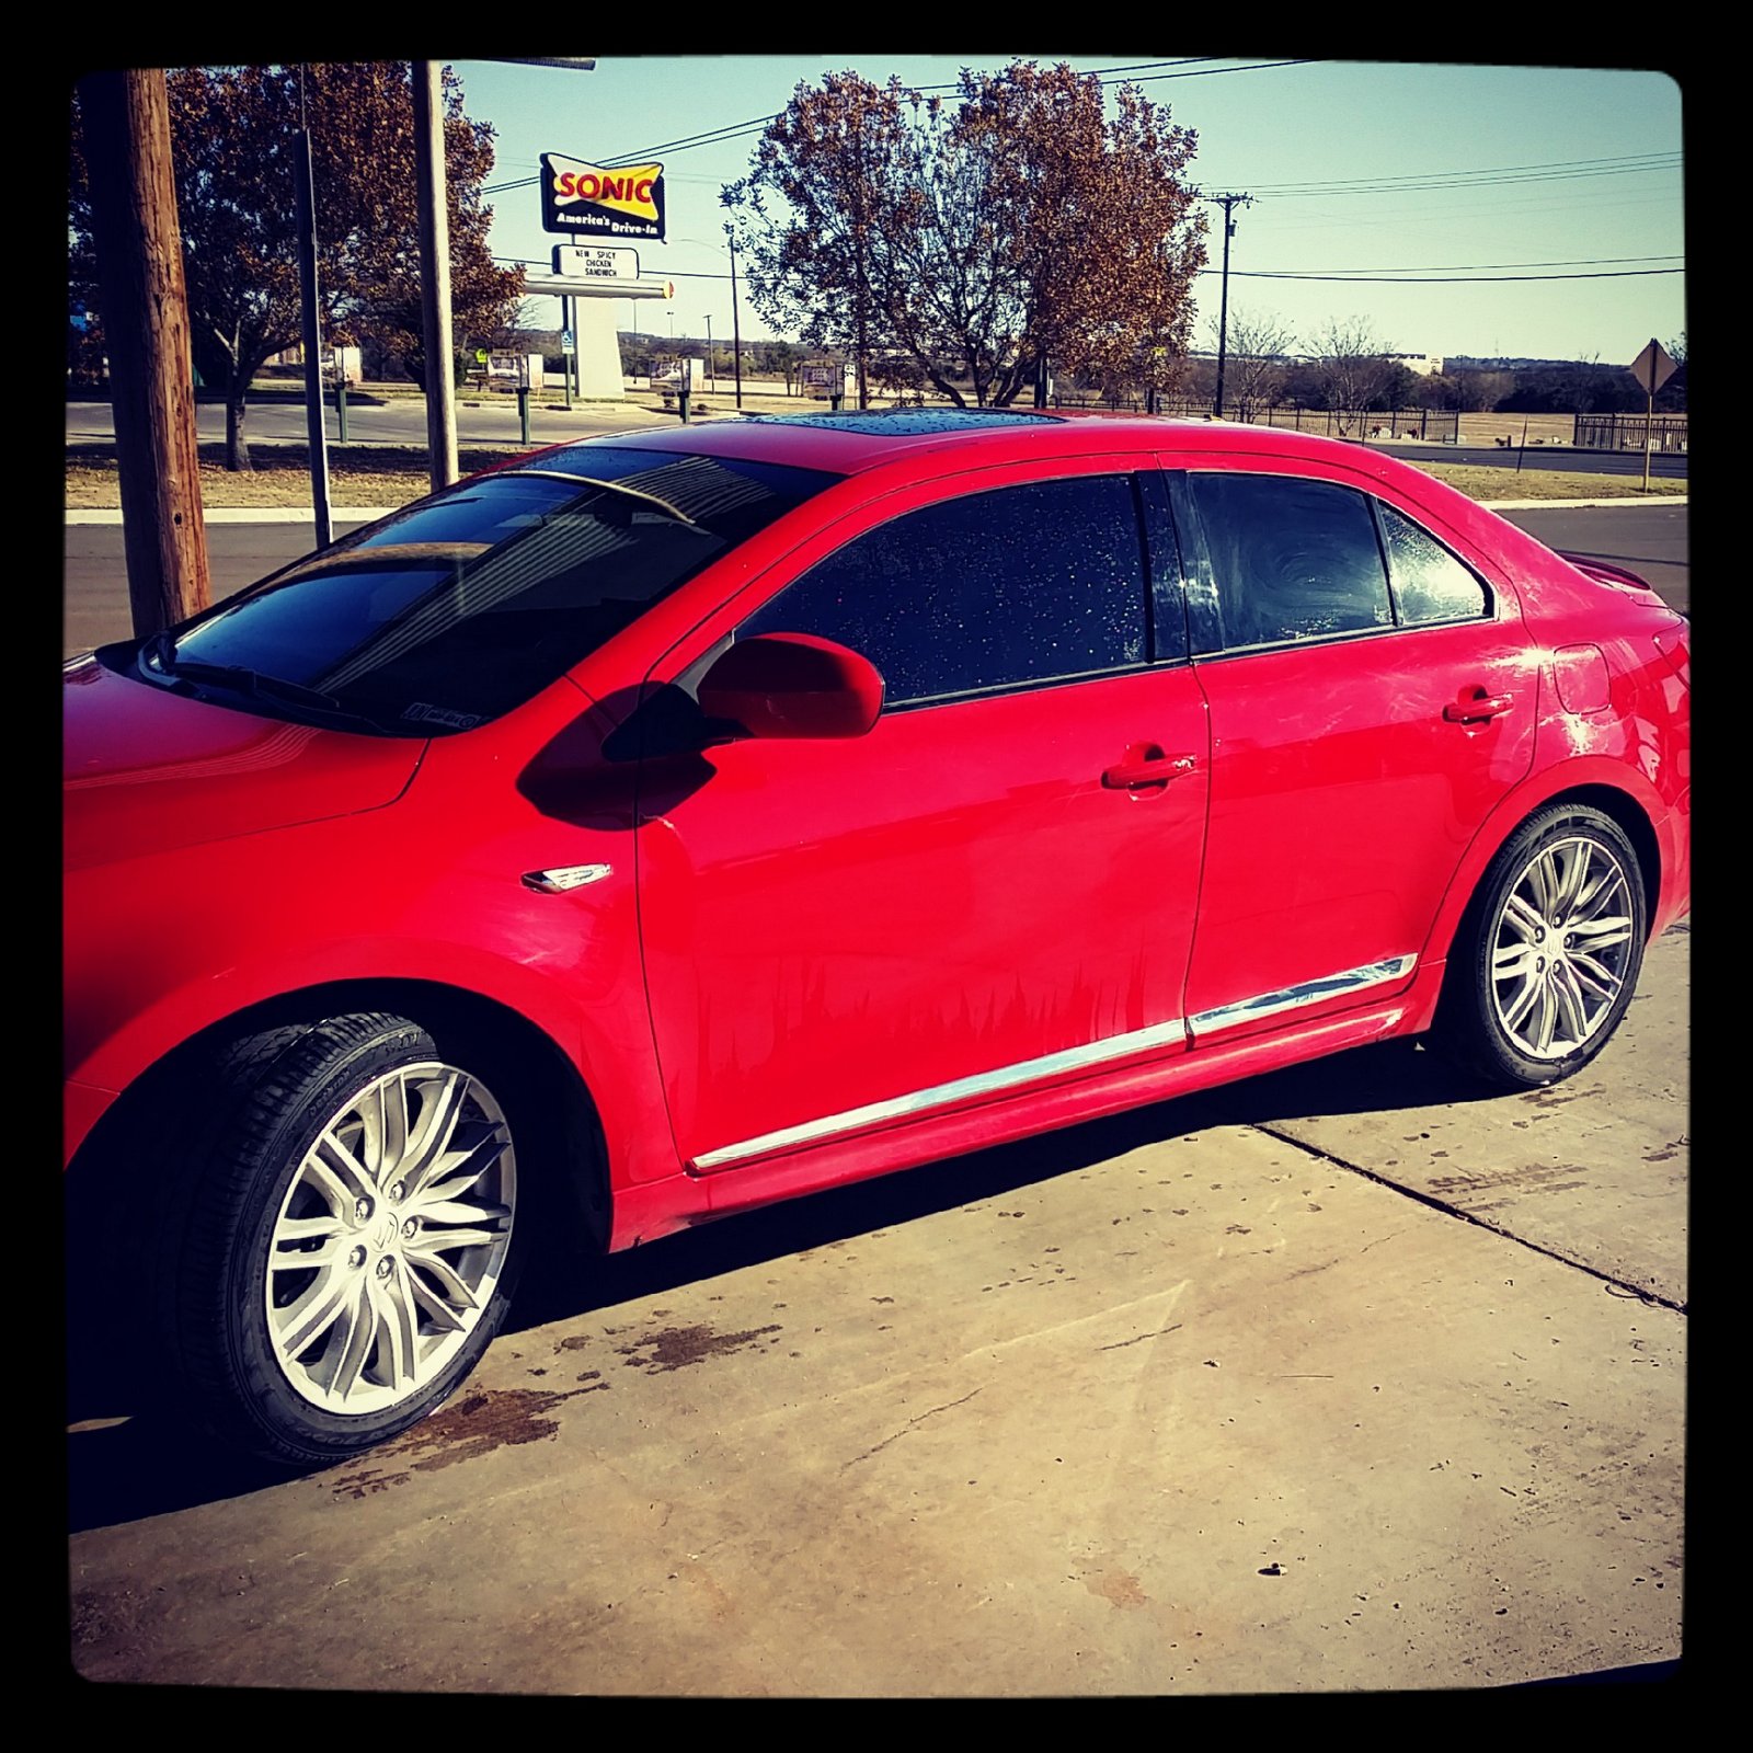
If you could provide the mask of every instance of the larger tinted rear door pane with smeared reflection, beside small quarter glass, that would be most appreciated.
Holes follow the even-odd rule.
[[[1360,493],[1283,475],[1196,472],[1187,480],[1225,645],[1394,626],[1376,521]]]

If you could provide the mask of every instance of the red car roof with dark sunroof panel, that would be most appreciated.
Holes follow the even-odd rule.
[[[864,414],[754,414],[689,426],[603,433],[580,440],[640,451],[685,451],[694,456],[789,463],[836,475],[859,475],[903,456],[954,452],[990,461],[1027,456],[1076,456],[1113,451],[1269,452],[1273,456],[1357,454],[1355,445],[1280,426],[1238,426],[1229,421],[1167,419],[1062,410],[898,408]],[[564,445],[573,449],[573,445]],[[943,461],[948,461],[947,458]]]

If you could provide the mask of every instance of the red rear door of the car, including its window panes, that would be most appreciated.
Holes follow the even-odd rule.
[[[1534,759],[1513,596],[1408,507],[1266,459],[1171,475],[1211,706],[1197,1041],[1404,983]]]

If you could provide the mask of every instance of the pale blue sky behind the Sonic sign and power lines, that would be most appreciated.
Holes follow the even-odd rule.
[[[1662,72],[1246,60],[1064,56],[603,56],[593,72],[458,61],[468,112],[498,130],[494,182],[533,177],[542,153],[624,160],[784,107],[799,81],[854,68],[873,81],[948,84],[961,67],[1024,56],[1085,72],[1136,67],[1141,89],[1197,130],[1192,174],[1248,191],[1231,244],[1231,316],[1273,316],[1309,340],[1366,317],[1388,349],[1630,361],[1685,317],[1681,89]],[[1175,75],[1175,77],[1150,77]],[[756,135],[652,153],[664,165],[666,244],[642,272],[673,279],[673,305],[624,303],[622,328],[731,333],[722,184]],[[493,249],[547,266],[538,191],[493,196]],[[1220,221],[1220,214],[1217,216]],[[1197,282],[1197,338],[1215,330],[1220,223]],[[1362,273],[1423,273],[1425,284]],[[1255,275],[1345,275],[1276,279]],[[1443,277],[1450,277],[1443,284]],[[1523,279],[1494,279],[1518,275]],[[1586,279],[1525,279],[1588,275]],[[557,303],[536,305],[557,323]],[[743,335],[768,331],[742,302]]]

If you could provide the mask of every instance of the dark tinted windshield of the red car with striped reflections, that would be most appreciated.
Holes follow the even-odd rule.
[[[167,685],[396,736],[529,699],[838,477],[582,444],[465,482],[140,649]]]

